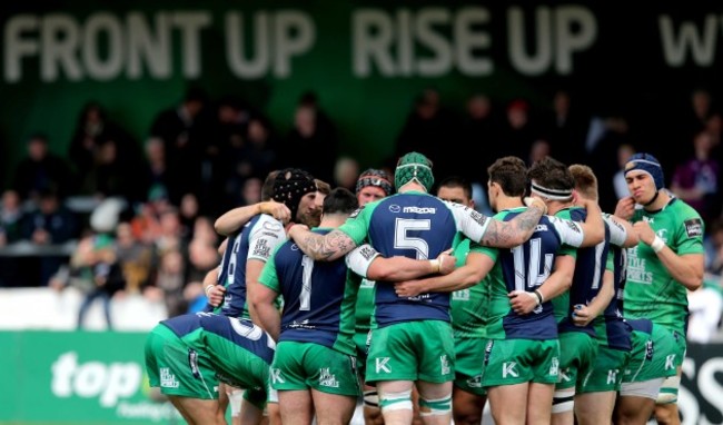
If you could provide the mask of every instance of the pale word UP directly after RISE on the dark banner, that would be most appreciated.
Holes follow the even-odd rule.
[[[561,6],[554,9],[535,9],[537,41],[534,56],[527,55],[523,9],[507,11],[508,51],[513,67],[525,75],[537,76],[553,66],[557,73],[566,76],[573,71],[573,53],[584,51],[597,38],[597,21],[590,9],[582,6]]]

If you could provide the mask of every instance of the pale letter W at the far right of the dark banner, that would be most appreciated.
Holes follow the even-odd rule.
[[[723,29],[723,23],[719,24],[719,19],[715,14],[707,14],[703,20],[702,29],[694,22],[684,21],[675,34],[673,19],[667,14],[661,16],[657,24],[665,62],[671,67],[682,67],[690,55],[696,66],[712,66],[717,50],[716,36],[719,29]]]

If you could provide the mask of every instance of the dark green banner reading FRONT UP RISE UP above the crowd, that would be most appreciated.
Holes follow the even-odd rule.
[[[393,152],[428,87],[458,109],[475,92],[549,107],[556,89],[572,88],[578,107],[622,109],[652,127],[693,88],[721,88],[721,2],[62,4],[0,6],[7,161],[24,154],[34,131],[65,154],[91,99],[143,140],[153,115],[178,102],[189,81],[212,97],[244,96],[281,134],[299,96],[314,90],[343,151],[372,165]]]

